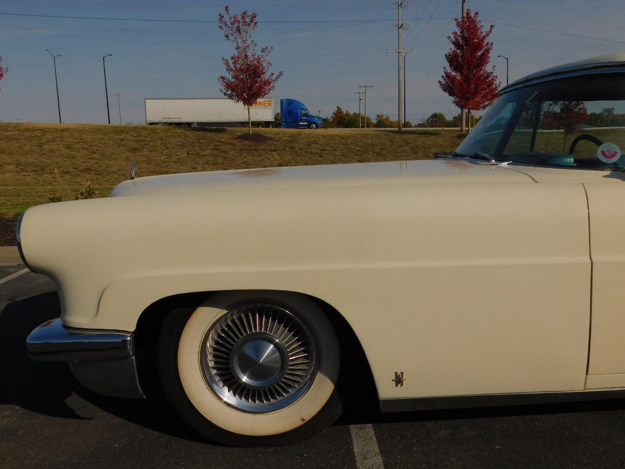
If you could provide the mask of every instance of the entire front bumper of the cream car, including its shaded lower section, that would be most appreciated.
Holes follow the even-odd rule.
[[[26,348],[32,360],[67,361],[76,379],[91,391],[114,397],[144,397],[131,332],[71,328],[59,318],[32,331]]]

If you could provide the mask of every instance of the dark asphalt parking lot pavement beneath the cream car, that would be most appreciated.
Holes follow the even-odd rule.
[[[382,414],[359,398],[298,445],[202,441],[151,401],[94,395],[24,340],[59,316],[51,281],[0,266],[0,466],[14,468],[607,468],[625,466],[625,401]],[[14,276],[14,274],[19,275]]]

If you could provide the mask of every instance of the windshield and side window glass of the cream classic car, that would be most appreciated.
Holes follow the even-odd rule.
[[[457,153],[578,168],[625,167],[625,76],[582,76],[503,94]]]

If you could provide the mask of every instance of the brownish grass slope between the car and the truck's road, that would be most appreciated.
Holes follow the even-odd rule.
[[[0,123],[0,215],[14,216],[58,192],[54,168],[72,190],[100,173],[98,196],[136,175],[431,158],[455,149],[457,129],[254,129],[273,138],[251,143],[241,128]]]

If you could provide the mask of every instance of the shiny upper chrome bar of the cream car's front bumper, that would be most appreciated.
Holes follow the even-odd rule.
[[[28,356],[40,361],[128,360],[134,355],[131,332],[77,329],[61,319],[43,323],[26,338]]]

